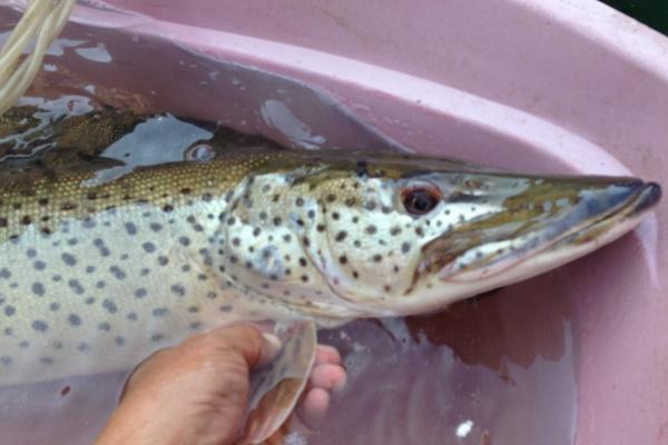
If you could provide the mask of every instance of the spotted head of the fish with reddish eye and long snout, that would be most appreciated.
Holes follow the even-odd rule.
[[[353,316],[425,313],[558,267],[631,230],[660,197],[636,178],[396,155],[288,177],[264,208],[296,222],[293,255],[310,279],[292,285],[322,286]]]

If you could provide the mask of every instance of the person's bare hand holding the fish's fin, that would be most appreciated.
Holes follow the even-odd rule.
[[[234,444],[246,413],[249,372],[278,349],[275,338],[235,325],[154,354],[128,379],[96,444]],[[307,426],[323,421],[331,392],[345,379],[336,349],[318,346],[298,408]]]

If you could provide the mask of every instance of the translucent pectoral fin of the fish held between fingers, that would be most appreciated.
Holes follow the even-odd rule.
[[[317,346],[313,322],[277,326],[283,348],[267,366],[253,372],[246,428],[239,445],[261,444],[281,429],[306,388]]]

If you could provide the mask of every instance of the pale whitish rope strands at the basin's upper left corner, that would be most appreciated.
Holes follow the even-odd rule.
[[[60,33],[77,0],[31,0],[0,51],[0,115],[23,96],[45,53]],[[21,57],[28,46],[35,49]]]

